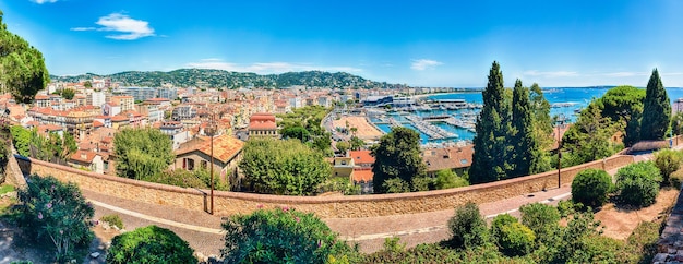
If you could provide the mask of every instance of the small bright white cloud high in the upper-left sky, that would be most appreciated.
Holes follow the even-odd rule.
[[[73,27],[71,31],[116,32],[117,34],[107,35],[106,37],[117,40],[135,40],[143,37],[155,36],[154,28],[149,27],[148,22],[131,19],[121,13],[111,13],[107,16],[99,17],[95,24],[103,27]]]

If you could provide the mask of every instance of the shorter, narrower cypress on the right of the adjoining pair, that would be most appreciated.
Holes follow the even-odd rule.
[[[531,175],[538,171],[539,145],[534,133],[534,113],[529,101],[529,92],[515,82],[513,91],[512,127],[515,134],[510,136],[512,145],[512,163],[514,169],[507,178]]]

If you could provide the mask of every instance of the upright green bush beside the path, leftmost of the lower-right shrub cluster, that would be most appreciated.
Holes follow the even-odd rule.
[[[472,202],[455,208],[455,215],[448,219],[451,240],[454,248],[469,248],[484,244],[489,239],[487,223]]]

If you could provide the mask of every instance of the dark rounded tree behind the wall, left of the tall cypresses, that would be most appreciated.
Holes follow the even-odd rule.
[[[392,131],[382,137],[380,143],[372,146],[371,155],[375,161],[372,165],[373,187],[375,193],[386,193],[384,181],[399,178],[411,182],[415,177],[423,177],[427,165],[420,156],[420,135],[408,128],[392,128]]]

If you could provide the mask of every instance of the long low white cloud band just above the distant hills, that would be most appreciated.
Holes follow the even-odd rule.
[[[331,72],[361,72],[362,69],[352,67],[321,67],[310,63],[290,63],[290,62],[256,62],[252,64],[238,64],[232,62],[226,62],[221,59],[209,58],[203,59],[199,62],[187,63],[188,68],[197,69],[216,69],[233,72],[253,72],[259,74],[273,74],[284,72],[299,72],[299,71],[331,71]]]

